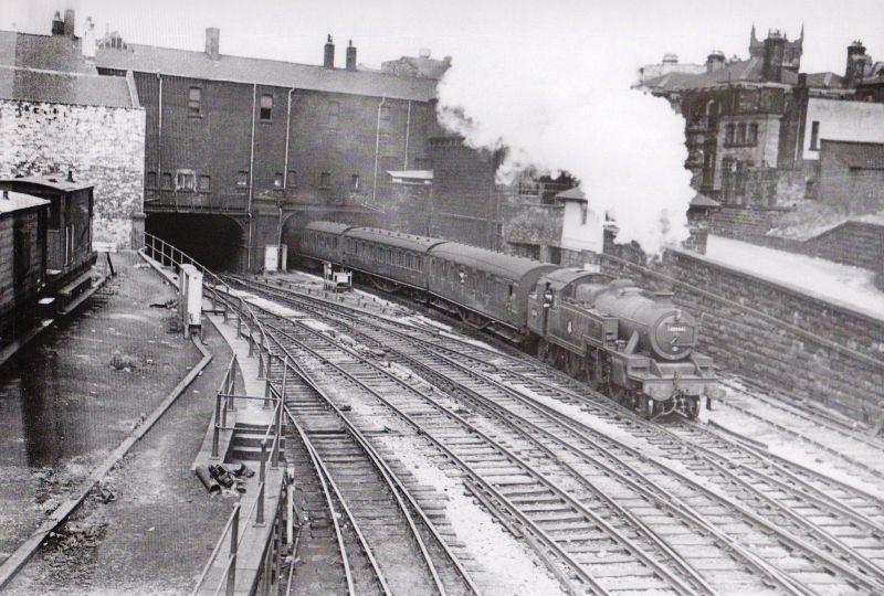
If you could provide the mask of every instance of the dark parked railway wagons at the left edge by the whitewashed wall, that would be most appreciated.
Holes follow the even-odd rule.
[[[92,284],[93,185],[73,173],[0,180],[0,348]]]

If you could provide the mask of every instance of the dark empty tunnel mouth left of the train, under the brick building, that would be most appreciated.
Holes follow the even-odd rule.
[[[242,227],[225,215],[151,213],[147,216],[145,230],[209,269],[242,269]]]

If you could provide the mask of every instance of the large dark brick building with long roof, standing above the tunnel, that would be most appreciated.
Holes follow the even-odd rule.
[[[359,68],[352,43],[336,67],[330,35],[323,51],[323,65],[231,56],[214,28],[203,52],[98,42],[98,73],[131,77],[146,110],[149,230],[193,251],[188,228],[218,230],[218,251],[235,253],[223,265],[255,268],[311,219],[377,223],[387,172],[430,167],[436,81]]]

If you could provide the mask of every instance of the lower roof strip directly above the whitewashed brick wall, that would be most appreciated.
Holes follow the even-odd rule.
[[[81,106],[134,107],[126,79],[0,66],[0,99]]]

